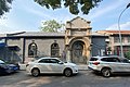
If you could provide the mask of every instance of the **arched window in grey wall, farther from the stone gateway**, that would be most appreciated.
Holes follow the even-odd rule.
[[[36,57],[37,55],[37,45],[35,42],[31,42],[28,46],[28,57]]]

